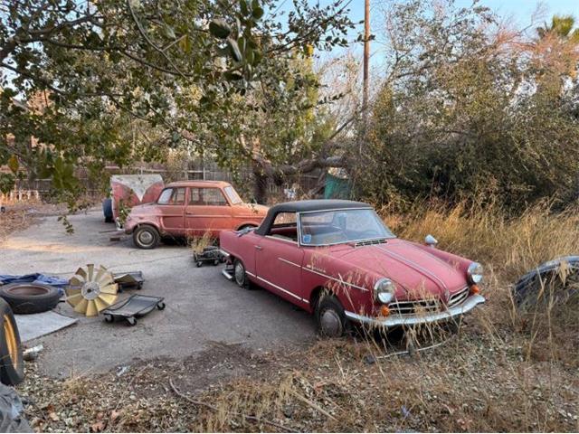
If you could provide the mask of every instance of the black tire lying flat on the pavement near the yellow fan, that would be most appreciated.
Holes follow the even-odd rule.
[[[40,314],[58,304],[58,288],[35,283],[13,283],[0,287],[0,297],[10,305],[14,314]]]

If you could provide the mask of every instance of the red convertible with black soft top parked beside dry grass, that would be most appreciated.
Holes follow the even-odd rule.
[[[223,231],[225,277],[315,314],[322,335],[348,322],[381,328],[456,320],[483,303],[482,267],[397,239],[367,203],[280,203],[257,229]]]

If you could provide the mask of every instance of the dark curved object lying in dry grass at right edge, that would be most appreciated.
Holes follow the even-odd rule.
[[[551,301],[567,303],[579,297],[579,256],[549,260],[518,279],[513,298],[520,310],[528,311]]]

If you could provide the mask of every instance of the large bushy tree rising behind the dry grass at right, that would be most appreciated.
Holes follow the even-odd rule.
[[[496,44],[486,9],[429,11],[424,2],[394,10],[407,54],[375,100],[359,192],[377,203],[498,198],[513,210],[546,196],[574,200],[576,94],[534,87],[542,71],[526,52]]]

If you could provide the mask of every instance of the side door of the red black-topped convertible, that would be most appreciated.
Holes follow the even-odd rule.
[[[293,214],[280,215],[280,214]],[[256,243],[255,269],[258,280],[293,303],[307,302],[301,288],[301,266],[304,251],[299,247],[297,239],[288,236],[288,220],[295,222],[295,213],[280,212],[276,216],[270,232]],[[297,234],[296,234],[297,237]]]

